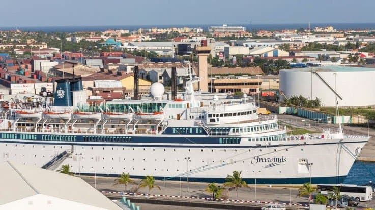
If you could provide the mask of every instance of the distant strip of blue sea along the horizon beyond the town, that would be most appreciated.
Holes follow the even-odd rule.
[[[225,24],[225,23],[223,23]],[[0,30],[20,29],[23,31],[44,31],[44,32],[75,32],[75,31],[104,31],[107,29],[128,29],[130,31],[139,28],[170,28],[170,27],[189,27],[189,28],[207,28],[220,24],[187,24],[187,25],[107,25],[107,26],[22,26],[22,27],[0,27]],[[294,24],[228,24],[243,25],[247,30],[280,30],[280,29],[300,29],[308,28],[308,23]],[[310,23],[310,27],[324,27],[332,25],[336,29],[375,29],[375,23]]]

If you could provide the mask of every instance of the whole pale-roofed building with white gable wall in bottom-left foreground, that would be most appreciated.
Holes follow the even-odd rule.
[[[79,177],[10,161],[0,170],[0,209],[122,209]]]

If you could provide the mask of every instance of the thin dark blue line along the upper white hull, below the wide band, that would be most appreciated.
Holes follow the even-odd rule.
[[[306,146],[306,145],[331,145],[331,144],[338,144],[337,142],[336,143],[318,143],[318,144],[306,144],[306,145],[302,145],[302,144],[291,144],[291,145],[268,145],[268,146],[264,146],[264,145],[259,145],[259,146],[254,146],[254,145],[247,145],[247,146],[240,146],[240,145],[234,145],[234,144],[223,144],[222,146],[221,145],[210,145],[210,144],[205,144],[205,145],[196,145],[194,143],[191,143],[191,145],[134,145],[132,143],[119,143],[119,144],[113,144],[113,143],[100,143],[100,144],[90,144],[90,143],[87,143],[87,144],[82,144],[80,142],[70,142],[70,143],[67,143],[67,142],[51,142],[51,141],[45,141],[45,142],[23,142],[23,141],[9,141],[9,140],[0,140],[1,143],[16,143],[16,144],[37,144],[37,145],[40,145],[40,144],[43,144],[43,145],[76,145],[76,146],[104,146],[104,147],[108,147],[108,146],[112,146],[112,147],[172,147],[172,148],[179,148],[179,147],[182,147],[182,148],[203,148],[203,147],[210,147],[210,148],[268,148],[268,147],[292,147],[292,146]],[[348,142],[348,143],[345,143],[345,144],[355,144],[355,143],[365,143],[367,141],[359,141],[359,142]],[[167,143],[164,143],[164,144],[167,144]],[[182,144],[182,143],[181,143]],[[186,144],[186,143],[185,143]]]

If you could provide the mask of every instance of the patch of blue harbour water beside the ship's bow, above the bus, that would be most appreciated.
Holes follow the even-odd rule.
[[[356,161],[350,169],[344,184],[365,184],[375,182],[375,163]]]

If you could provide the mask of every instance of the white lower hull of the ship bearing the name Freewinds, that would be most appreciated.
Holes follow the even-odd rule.
[[[258,183],[269,184],[308,182],[308,162],[313,163],[313,183],[342,183],[367,140],[310,139],[308,144],[301,140],[273,141],[267,142],[266,147],[265,143],[256,145],[254,142],[192,146],[1,139],[3,154],[0,161],[42,167],[63,151],[73,150],[72,158],[66,158],[62,164],[69,164],[75,173],[117,176],[129,172],[138,177],[186,179],[188,166],[191,181],[220,182],[237,170],[242,171],[243,178],[249,183],[256,178]],[[190,157],[188,165],[185,157]]]

